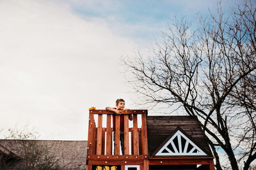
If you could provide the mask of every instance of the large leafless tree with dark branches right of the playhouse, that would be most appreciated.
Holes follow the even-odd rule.
[[[175,20],[154,55],[126,61],[129,83],[147,103],[168,104],[197,116],[216,158],[216,169],[248,169],[255,150],[255,7],[244,2],[225,18],[200,17],[191,29]],[[177,107],[177,108],[174,108]],[[227,154],[221,164],[216,146]]]

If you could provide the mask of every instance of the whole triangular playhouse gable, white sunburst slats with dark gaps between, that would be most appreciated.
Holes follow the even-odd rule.
[[[188,135],[188,134],[187,134]],[[177,128],[177,131],[170,136],[170,139],[163,143],[164,145],[161,148],[157,148],[156,156],[191,156],[191,155],[207,155],[198,147],[191,137],[185,135],[180,128]]]

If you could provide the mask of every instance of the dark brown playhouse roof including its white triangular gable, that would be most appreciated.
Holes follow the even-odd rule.
[[[198,119],[196,117],[190,116],[148,116],[147,117],[147,131],[148,131],[148,155],[149,157],[184,157],[182,153],[171,154],[172,145],[171,142],[175,139],[175,135],[179,134],[179,138],[183,140],[188,140],[197,150],[200,150],[198,153],[185,153],[186,157],[212,157],[211,149],[207,143],[204,133],[200,127]],[[176,138],[177,140],[177,138]],[[181,140],[180,140],[181,141]],[[186,141],[185,141],[186,142]],[[188,148],[185,146],[183,141],[183,148]],[[168,144],[169,143],[169,144]],[[181,142],[180,142],[181,143]],[[169,145],[169,146],[168,146]],[[173,144],[174,145],[174,144]],[[191,146],[192,146],[191,145]],[[193,147],[192,146],[192,147]],[[164,147],[171,147],[168,154],[161,153],[164,150]],[[179,146],[176,146],[176,152],[179,152]],[[168,148],[167,148],[168,150]],[[186,149],[187,150],[187,149]],[[165,150],[166,151],[166,150]],[[160,154],[159,154],[160,152]],[[173,150],[173,152],[175,152]],[[189,152],[189,150],[188,150]],[[157,154],[158,155],[157,155]],[[204,153],[203,155],[199,153]],[[176,154],[176,155],[175,155]],[[190,155],[189,155],[190,154]],[[159,156],[161,155],[161,156]],[[168,156],[164,156],[168,155]]]

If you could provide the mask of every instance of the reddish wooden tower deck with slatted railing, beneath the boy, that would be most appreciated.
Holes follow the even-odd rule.
[[[116,117],[115,153],[114,129],[111,127],[113,114]],[[124,155],[120,155],[120,115],[106,110],[90,110],[86,162],[88,169],[92,169],[93,165],[120,165],[124,169],[125,164],[136,164],[148,169],[147,110],[128,110],[121,114],[124,115]],[[129,115],[133,117],[132,127],[129,127]],[[106,117],[106,124],[103,124],[103,117]],[[141,127],[138,127],[139,122]]]

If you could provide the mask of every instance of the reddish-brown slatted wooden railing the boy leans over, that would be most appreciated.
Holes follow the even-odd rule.
[[[113,128],[111,127],[111,115],[116,115],[106,110],[90,110],[88,128],[88,151],[87,157],[93,155],[114,155],[113,152]],[[124,155],[148,155],[147,144],[147,110],[122,111],[124,115]],[[133,116],[132,127],[129,128],[129,115]],[[106,121],[103,117],[106,115]],[[138,116],[141,115],[141,116]],[[141,120],[138,120],[141,117]],[[95,124],[97,121],[97,125]],[[106,122],[106,125],[102,125]],[[138,128],[141,122],[141,128]],[[129,132],[131,133],[131,143],[129,143]],[[105,144],[106,143],[106,144]],[[129,152],[131,147],[131,153]],[[120,115],[116,115],[115,120],[115,155],[120,155]],[[146,156],[147,157],[147,156]]]

